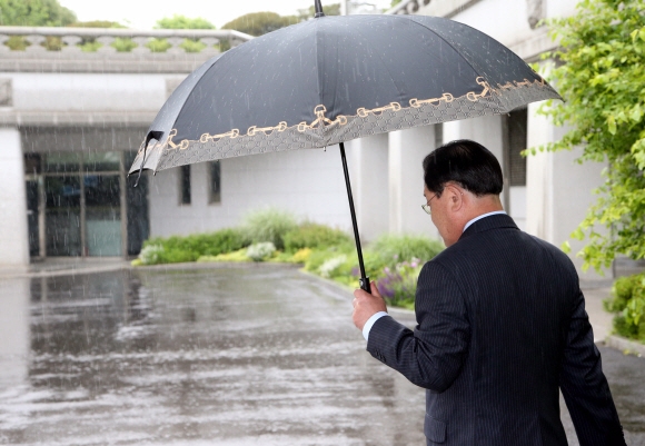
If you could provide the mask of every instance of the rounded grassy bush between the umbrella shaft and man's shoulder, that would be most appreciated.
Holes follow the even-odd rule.
[[[423,264],[430,260],[444,249],[444,246],[426,236],[384,234],[378,237],[369,250],[378,254],[385,266],[395,268],[397,264],[418,259]]]

